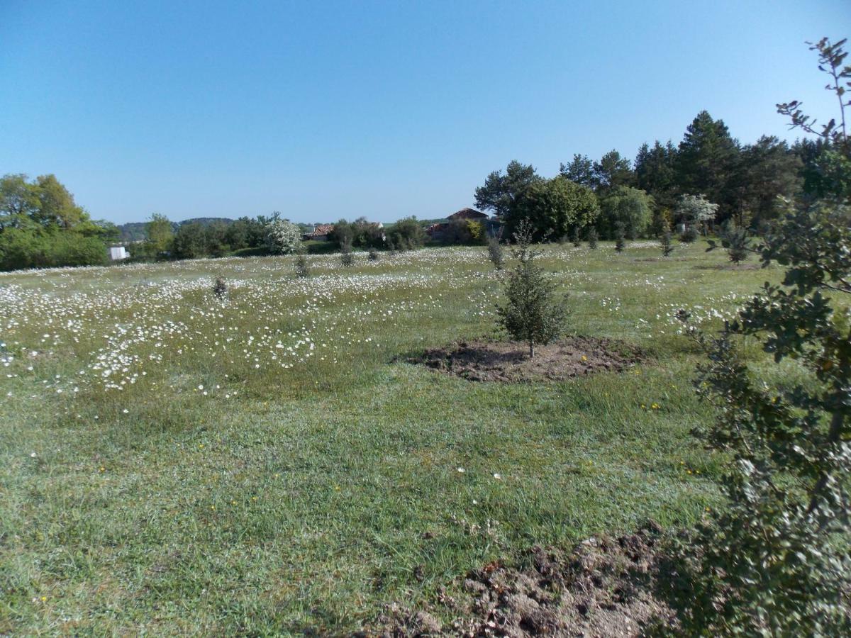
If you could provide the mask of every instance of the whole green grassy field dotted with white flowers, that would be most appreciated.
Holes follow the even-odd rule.
[[[717,328],[780,271],[703,242],[544,250],[568,333],[643,363],[500,384],[405,362],[504,339],[483,248],[306,280],[288,257],[0,275],[0,634],[345,633],[534,544],[716,506],[672,317]]]

